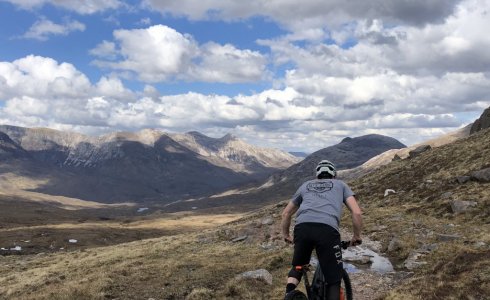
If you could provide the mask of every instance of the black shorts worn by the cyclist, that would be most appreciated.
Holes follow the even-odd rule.
[[[316,250],[320,267],[327,283],[338,283],[342,279],[342,251],[340,234],[332,226],[322,223],[300,223],[294,227],[293,266],[310,262]]]

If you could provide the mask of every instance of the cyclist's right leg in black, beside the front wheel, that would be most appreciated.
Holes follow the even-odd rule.
[[[333,227],[325,225],[317,237],[316,253],[327,282],[327,299],[337,300],[340,298],[343,267],[340,234]]]

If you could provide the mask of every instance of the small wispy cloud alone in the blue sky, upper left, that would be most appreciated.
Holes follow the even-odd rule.
[[[50,36],[68,35],[74,31],[85,31],[85,25],[78,21],[66,21],[64,24],[56,24],[51,20],[42,18],[36,21],[22,37],[46,41]]]

